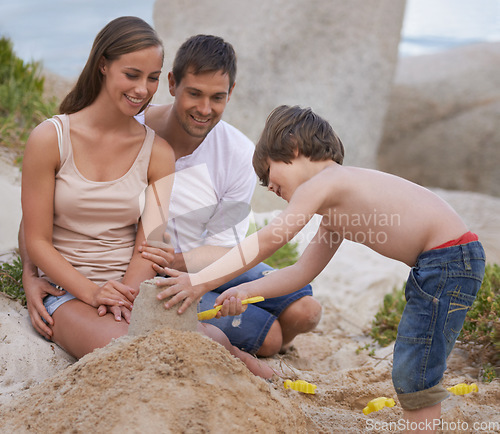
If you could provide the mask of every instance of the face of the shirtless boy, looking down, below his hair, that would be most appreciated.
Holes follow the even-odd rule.
[[[269,184],[267,189],[289,202],[296,188],[304,180],[302,167],[304,158],[300,155],[294,158],[290,164],[268,159]]]

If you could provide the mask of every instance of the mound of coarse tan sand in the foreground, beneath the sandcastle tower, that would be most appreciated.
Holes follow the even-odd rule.
[[[164,328],[124,337],[0,410],[3,432],[304,432],[306,418],[221,345]]]

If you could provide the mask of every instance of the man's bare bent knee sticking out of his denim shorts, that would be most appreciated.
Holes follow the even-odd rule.
[[[300,333],[314,330],[321,319],[321,304],[307,295],[294,301],[278,317],[282,328],[293,327]]]

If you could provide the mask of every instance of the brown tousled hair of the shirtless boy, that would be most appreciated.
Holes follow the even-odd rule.
[[[266,120],[253,154],[253,167],[261,184],[269,184],[268,159],[290,164],[297,155],[342,164],[344,145],[331,125],[310,108],[276,107]]]

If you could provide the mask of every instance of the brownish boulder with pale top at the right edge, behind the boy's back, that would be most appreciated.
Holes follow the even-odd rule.
[[[403,58],[379,168],[429,187],[500,196],[500,43]]]

